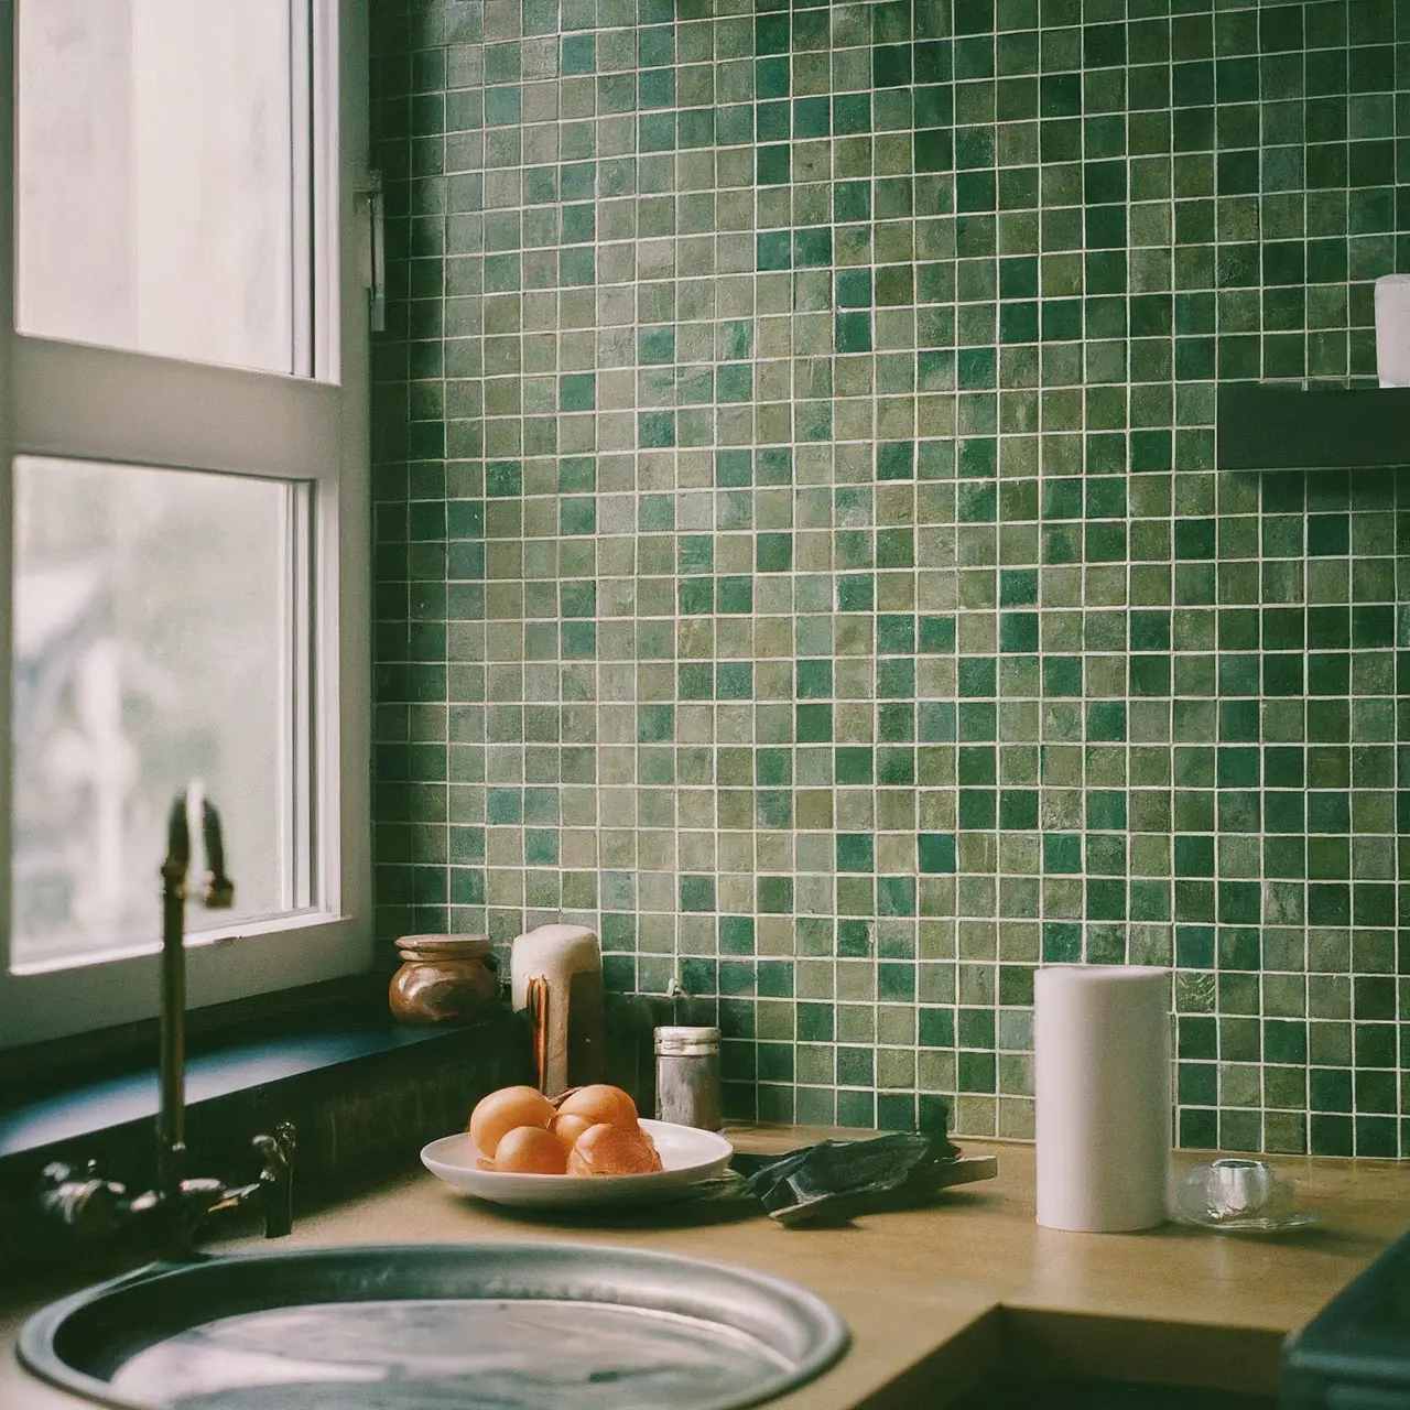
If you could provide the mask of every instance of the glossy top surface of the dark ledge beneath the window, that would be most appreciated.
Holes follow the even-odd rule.
[[[234,1093],[324,1072],[417,1045],[444,1045],[467,1025],[403,1028],[391,1019],[310,1024],[257,1041],[231,1042],[186,1060],[186,1105],[196,1110]],[[79,1081],[0,1111],[0,1162],[149,1120],[158,1108],[155,1062],[120,1076]]]

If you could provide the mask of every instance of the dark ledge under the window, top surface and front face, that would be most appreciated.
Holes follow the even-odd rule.
[[[462,1129],[486,1091],[529,1080],[532,1070],[527,1028],[506,1010],[464,1028],[413,1029],[393,1024],[385,1007],[351,1015],[344,1007],[203,1046],[186,1065],[189,1172],[254,1179],[251,1138],[292,1121],[299,1210],[407,1169],[427,1141]],[[18,1232],[0,1248],[0,1270],[89,1262],[111,1251],[78,1245],[35,1217],[39,1172],[51,1160],[93,1160],[104,1179],[151,1187],[154,1056],[148,1049],[148,1060],[128,1070],[90,1066],[0,1108],[0,1222]]]

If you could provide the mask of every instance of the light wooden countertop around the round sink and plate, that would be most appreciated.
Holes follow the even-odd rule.
[[[784,1151],[829,1132],[730,1132],[740,1149]],[[856,1132],[849,1132],[856,1135]],[[784,1230],[730,1206],[547,1222],[479,1204],[430,1175],[310,1215],[281,1246],[563,1239],[656,1248],[740,1263],[811,1289],[852,1330],[852,1349],[778,1410],[933,1410],[1021,1363],[1025,1373],[1096,1375],[1270,1390],[1282,1338],[1403,1232],[1410,1204],[1394,1162],[1275,1159],[1318,1224],[1276,1238],[1167,1225],[1146,1234],[1066,1234],[1034,1221],[1028,1145],[962,1142],[995,1155],[998,1177],[924,1210],[846,1228]],[[1200,1156],[1180,1155],[1189,1166]],[[248,1242],[248,1241],[247,1241]],[[0,1293],[0,1340],[69,1289]],[[4,1410],[76,1410],[75,1400],[0,1361]]]

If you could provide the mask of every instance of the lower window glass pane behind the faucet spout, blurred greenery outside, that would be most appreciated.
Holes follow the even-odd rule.
[[[234,911],[290,909],[299,486],[16,461],[13,957],[149,943],[166,815],[190,778],[220,809]]]

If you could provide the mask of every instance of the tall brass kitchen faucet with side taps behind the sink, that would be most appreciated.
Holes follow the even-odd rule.
[[[76,1173],[62,1163],[44,1169],[39,1200],[47,1214],[78,1232],[99,1232],[142,1220],[158,1230],[165,1256],[189,1258],[196,1230],[213,1214],[264,1203],[265,1238],[288,1234],[293,1224],[292,1162],[295,1131],[289,1122],[275,1134],[252,1141],[262,1159],[251,1184],[227,1186],[224,1180],[186,1176],[186,873],[190,870],[190,819],[188,795],[176,797],[166,828],[162,862],[162,969],[161,969],[161,1107],[157,1115],[157,1186],[127,1197],[124,1186],[104,1180],[90,1162]],[[200,798],[200,832],[206,853],[204,904],[226,909],[234,904],[235,885],[226,874],[226,849],[220,814]]]

